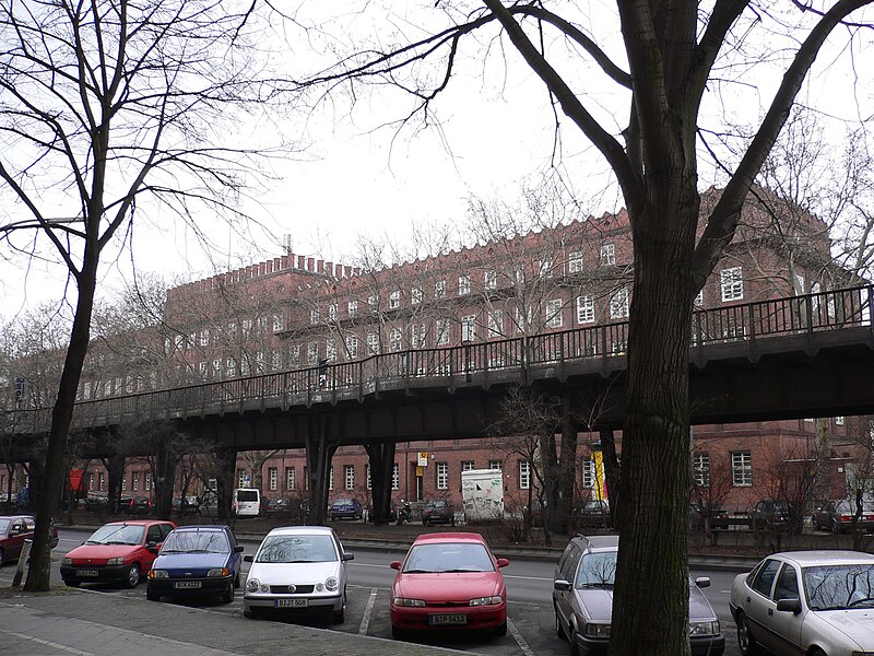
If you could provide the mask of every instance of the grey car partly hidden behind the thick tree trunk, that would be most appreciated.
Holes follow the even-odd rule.
[[[555,566],[555,631],[569,640],[572,654],[606,654],[613,617],[613,583],[618,536],[578,536],[568,542]],[[725,637],[700,588],[710,579],[689,579],[689,643],[693,656],[720,656]]]

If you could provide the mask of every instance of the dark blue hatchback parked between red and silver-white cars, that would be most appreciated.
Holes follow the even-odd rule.
[[[145,596],[221,596],[234,600],[240,586],[243,547],[227,526],[182,526],[167,536],[149,573]]]

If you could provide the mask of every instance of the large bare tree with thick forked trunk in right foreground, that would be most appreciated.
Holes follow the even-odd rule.
[[[744,199],[817,54],[837,27],[849,38],[859,33],[864,38],[867,4],[787,2],[778,15],[771,3],[745,0],[636,0],[617,3],[614,14],[593,16],[587,13],[590,5],[578,3],[438,2],[434,15],[442,22],[424,36],[420,21],[408,23],[416,26],[409,40],[392,22],[397,46],[386,48],[377,39],[366,47],[355,44],[335,69],[311,80],[374,81],[380,89],[408,91],[412,107],[404,125],[410,125],[417,112],[430,120],[441,92],[463,70],[466,46],[479,46],[471,57],[476,62],[506,56],[509,47],[543,81],[556,124],[564,122],[560,112],[615,175],[634,239],[615,588],[624,612],[614,616],[611,632],[617,656],[689,653],[687,360],[694,300],[732,241]],[[746,83],[759,65],[776,68],[780,82],[741,155],[719,162],[727,181],[699,235],[698,149],[724,129],[708,125],[712,115],[702,107],[711,98],[731,102],[728,85]],[[615,86],[617,104],[605,106],[602,94],[589,93],[598,74]],[[624,125],[621,114],[628,117]],[[721,159],[713,147],[710,154]],[[664,622],[641,621],[652,613]]]

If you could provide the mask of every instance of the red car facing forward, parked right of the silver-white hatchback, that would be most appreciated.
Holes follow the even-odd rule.
[[[418,536],[391,586],[391,632],[480,630],[507,633],[507,588],[496,559],[474,532]]]

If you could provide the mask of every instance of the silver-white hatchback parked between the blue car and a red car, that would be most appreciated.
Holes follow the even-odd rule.
[[[247,618],[264,612],[321,612],[342,623],[346,608],[346,562],[353,560],[326,526],[271,530],[250,562],[243,597]]]

